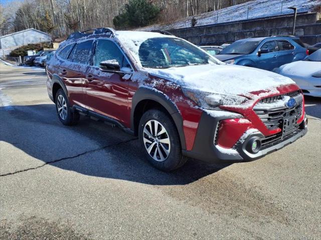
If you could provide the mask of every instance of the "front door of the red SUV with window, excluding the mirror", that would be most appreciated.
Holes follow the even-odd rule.
[[[100,69],[100,62],[114,59],[120,64],[120,71]],[[131,75],[122,69],[130,73],[131,67],[118,45],[109,39],[98,39],[85,77],[86,104],[92,111],[129,125],[128,80]]]

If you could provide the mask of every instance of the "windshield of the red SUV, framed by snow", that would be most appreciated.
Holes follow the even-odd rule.
[[[174,37],[155,37],[143,41],[138,50],[143,67],[168,68],[215,63],[216,60],[200,48]]]

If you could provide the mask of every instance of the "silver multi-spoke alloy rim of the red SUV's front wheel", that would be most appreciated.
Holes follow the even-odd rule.
[[[165,161],[171,151],[170,136],[164,125],[157,120],[149,120],[144,125],[143,142],[146,151],[156,161]]]

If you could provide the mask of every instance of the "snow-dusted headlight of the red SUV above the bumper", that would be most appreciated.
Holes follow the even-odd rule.
[[[181,87],[184,94],[205,109],[220,109],[221,105],[240,105],[247,100],[244,96],[201,91]]]

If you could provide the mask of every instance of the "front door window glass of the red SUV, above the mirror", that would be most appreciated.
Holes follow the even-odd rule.
[[[94,55],[94,66],[99,66],[99,63],[102,61],[113,59],[116,59],[119,62],[120,67],[130,66],[123,53],[114,42],[104,39],[98,40]]]

